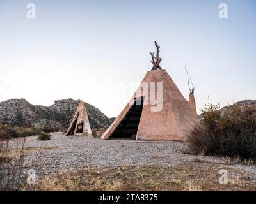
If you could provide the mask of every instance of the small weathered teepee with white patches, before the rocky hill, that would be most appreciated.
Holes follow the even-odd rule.
[[[76,135],[79,129],[83,134],[92,135],[86,107],[83,102],[78,103],[76,113],[65,135]]]

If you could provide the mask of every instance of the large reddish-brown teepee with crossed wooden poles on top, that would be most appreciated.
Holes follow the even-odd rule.
[[[115,121],[102,135],[102,139],[133,138],[136,140],[186,140],[198,122],[193,107],[182,96],[168,73],[159,66],[159,46],[157,55],[152,56],[153,68],[148,71],[131,101],[116,117]],[[154,87],[154,92],[147,91]],[[150,89],[150,88],[149,88]],[[148,92],[150,96],[148,97]],[[145,103],[151,94],[161,98],[157,105]],[[159,97],[162,96],[162,97]],[[156,106],[161,108],[156,108]]]

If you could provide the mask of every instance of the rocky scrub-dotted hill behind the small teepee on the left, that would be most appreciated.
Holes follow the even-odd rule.
[[[40,125],[43,129],[65,131],[76,112],[78,101],[63,99],[47,106],[32,105],[26,99],[10,99],[0,102],[0,124],[12,126]],[[111,120],[99,109],[85,103],[91,128],[108,128]]]

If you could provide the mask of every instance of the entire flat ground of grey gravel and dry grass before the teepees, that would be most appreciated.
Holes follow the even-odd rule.
[[[100,140],[51,133],[51,140],[26,138],[24,175],[36,170],[39,191],[156,190],[255,191],[250,161],[193,155],[186,142]],[[19,138],[10,145],[17,148]],[[227,170],[221,184],[220,170]]]

